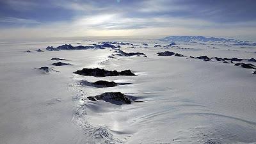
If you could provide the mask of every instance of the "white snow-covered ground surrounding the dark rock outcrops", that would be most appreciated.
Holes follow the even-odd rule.
[[[120,45],[120,49],[143,52],[147,58],[118,56],[110,48],[45,50],[49,45],[107,41],[134,44]],[[161,47],[154,47],[156,43]],[[234,66],[239,61],[189,58],[250,59],[256,58],[255,47],[189,42],[163,47],[168,44],[142,38],[1,42],[0,143],[256,143],[255,70]],[[157,56],[164,51],[187,57]],[[53,66],[54,57],[72,65]],[[52,71],[35,69],[40,67]],[[138,76],[73,73],[97,67],[130,69]],[[80,84],[81,80],[123,84],[97,88]],[[104,92],[122,92],[142,102],[116,105],[87,99]]]

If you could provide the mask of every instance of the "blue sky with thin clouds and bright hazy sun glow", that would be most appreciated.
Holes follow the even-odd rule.
[[[256,41],[255,0],[0,0],[0,38],[204,35]]]

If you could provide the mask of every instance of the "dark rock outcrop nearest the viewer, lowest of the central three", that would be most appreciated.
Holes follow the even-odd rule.
[[[96,95],[95,97],[87,97],[87,98],[92,101],[104,100],[106,102],[110,102],[112,104],[118,104],[118,105],[132,103],[129,97],[127,97],[126,95],[120,92],[106,92],[106,93],[102,93],[101,95]]]

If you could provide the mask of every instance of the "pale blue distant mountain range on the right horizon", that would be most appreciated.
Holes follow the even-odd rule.
[[[218,43],[227,43],[234,45],[246,45],[246,46],[256,46],[256,43],[249,41],[241,41],[235,39],[225,39],[225,38],[216,38],[216,37],[205,37],[205,36],[167,36],[159,39],[165,42],[218,42]]]

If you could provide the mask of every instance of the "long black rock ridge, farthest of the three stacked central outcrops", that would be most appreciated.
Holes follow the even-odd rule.
[[[83,70],[77,70],[75,74],[83,76],[95,76],[95,77],[106,77],[106,76],[136,76],[131,70],[124,70],[118,72],[116,70],[104,70],[100,68],[83,68]]]

